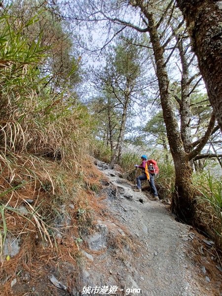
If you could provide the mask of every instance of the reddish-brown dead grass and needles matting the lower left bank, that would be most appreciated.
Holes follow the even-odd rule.
[[[1,224],[1,230],[5,236],[11,233],[21,238],[19,254],[9,260],[2,257],[0,281],[7,279],[2,286],[5,296],[11,295],[10,282],[19,272],[41,278],[60,261],[72,263],[77,270],[79,244],[83,236],[93,232],[95,220],[104,209],[95,190],[90,189],[93,183],[100,188],[102,178],[91,161],[83,164],[84,172],[72,176],[71,170],[62,171],[61,164],[33,159],[32,163],[27,158],[17,163],[13,180],[8,179],[6,169],[0,178],[5,192],[1,204],[5,228]],[[26,202],[27,198],[33,203]],[[17,211],[20,206],[26,208],[27,215]]]

